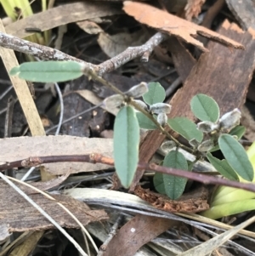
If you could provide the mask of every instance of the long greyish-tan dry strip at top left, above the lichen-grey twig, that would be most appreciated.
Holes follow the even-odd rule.
[[[27,27],[35,27],[47,31],[54,27],[80,20],[93,19],[108,15],[122,14],[120,5],[116,3],[99,3],[86,1],[82,3],[62,4],[45,12],[33,14],[26,19],[18,20],[6,26],[6,32],[15,37],[27,37],[32,32],[26,32]]]

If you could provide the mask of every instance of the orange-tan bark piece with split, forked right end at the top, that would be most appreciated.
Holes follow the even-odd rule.
[[[145,3],[126,1],[124,2],[124,11],[133,16],[140,23],[152,26],[170,35],[180,37],[185,42],[194,44],[197,48],[205,52],[208,51],[207,48],[204,48],[203,43],[197,41],[194,37],[201,35],[202,37],[212,38],[213,41],[223,43],[228,47],[244,48],[241,43],[237,43],[206,27],[195,25],[194,23],[178,18],[173,14],[168,14],[161,9],[156,9]]]

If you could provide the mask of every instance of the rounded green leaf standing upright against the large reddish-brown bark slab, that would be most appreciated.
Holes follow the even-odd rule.
[[[218,104],[206,94],[197,94],[190,101],[191,111],[201,121],[217,122],[219,117]]]

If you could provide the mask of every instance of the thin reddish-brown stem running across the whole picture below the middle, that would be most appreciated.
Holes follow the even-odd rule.
[[[31,156],[19,161],[6,162],[0,165],[0,171],[9,169],[9,168],[20,168],[20,167],[32,167],[37,166],[43,163],[50,162],[92,162],[92,163],[105,163],[111,166],[114,166],[114,161],[112,158],[105,157],[99,154],[90,154],[90,155],[73,155],[73,156]],[[162,174],[171,174],[178,177],[184,177],[187,179],[192,179],[203,184],[215,184],[215,185],[225,185],[229,187],[234,187],[242,189],[245,191],[255,192],[255,184],[252,183],[242,183],[237,181],[232,181],[229,179],[223,179],[220,177],[214,177],[206,174],[197,174],[191,173],[184,170],[178,170],[174,168],[166,168],[155,163],[144,163],[139,162],[138,170],[151,170],[159,172]]]

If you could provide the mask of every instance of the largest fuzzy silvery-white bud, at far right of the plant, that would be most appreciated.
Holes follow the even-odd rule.
[[[224,130],[231,130],[236,125],[240,124],[241,111],[239,109],[235,109],[234,111],[230,111],[225,113],[221,118],[219,118],[219,126]]]

